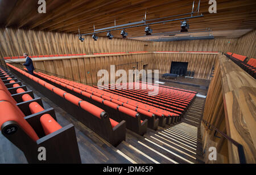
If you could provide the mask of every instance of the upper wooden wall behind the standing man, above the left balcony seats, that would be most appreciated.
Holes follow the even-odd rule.
[[[75,34],[0,28],[0,57],[76,53],[150,51],[151,42],[86,36],[81,42]],[[146,45],[146,46],[145,46]]]

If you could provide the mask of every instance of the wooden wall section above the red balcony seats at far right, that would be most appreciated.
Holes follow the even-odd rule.
[[[256,29],[240,37],[234,53],[256,58]]]

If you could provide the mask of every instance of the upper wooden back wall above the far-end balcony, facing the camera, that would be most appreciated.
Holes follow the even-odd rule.
[[[152,42],[155,51],[232,52],[238,39]]]

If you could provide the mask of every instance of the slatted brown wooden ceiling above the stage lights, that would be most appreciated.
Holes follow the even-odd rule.
[[[195,2],[196,8],[199,0]],[[190,29],[210,28],[220,37],[240,37],[256,28],[255,0],[217,0],[216,14],[209,14],[208,2],[201,1],[200,14],[204,17],[189,19]],[[37,0],[0,0],[0,26],[75,34],[80,28],[81,33],[91,33],[93,24],[98,29],[113,26],[114,20],[116,25],[138,22],[146,11],[147,19],[189,13],[192,3],[193,0],[48,0],[46,14],[39,14]],[[153,33],[176,32],[180,30],[180,21],[154,24],[151,28]],[[129,38],[138,40],[145,35],[144,27],[126,32]],[[112,35],[121,37],[120,31],[113,31]]]

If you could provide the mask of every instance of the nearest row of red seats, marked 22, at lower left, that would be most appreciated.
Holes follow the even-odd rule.
[[[56,152],[54,157],[47,153],[43,163],[81,163],[75,127],[72,124],[61,127],[37,102],[40,99],[33,99],[7,70],[0,68],[0,78],[0,128],[2,134],[23,151],[28,163],[42,163],[38,159],[38,147],[41,146],[47,152]],[[19,98],[14,99],[18,96],[19,101]],[[21,110],[24,106],[30,110],[30,116],[25,116]],[[63,146],[67,142],[72,146]]]

